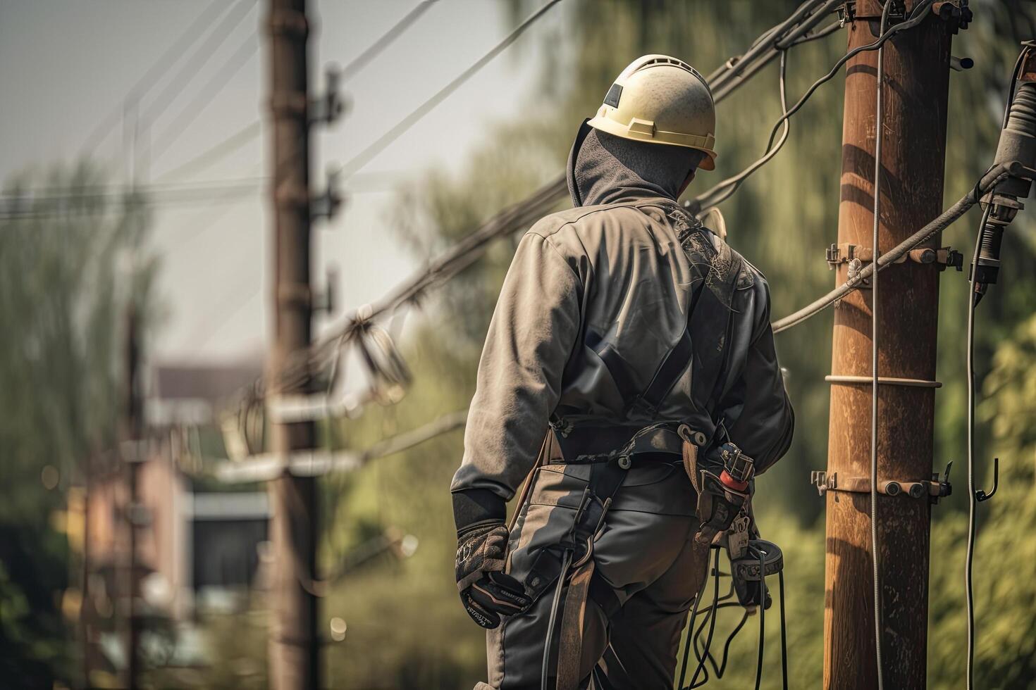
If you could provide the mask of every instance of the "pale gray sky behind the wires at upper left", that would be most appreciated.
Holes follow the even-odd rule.
[[[90,132],[121,107],[131,87],[210,1],[0,0],[0,180],[26,169],[74,160]],[[311,39],[314,89],[322,88],[326,62],[346,64],[416,4],[416,0],[311,0],[319,17]],[[156,146],[167,140],[166,128],[191,108],[209,80],[234,60],[235,52],[247,54],[247,41],[258,39],[259,50],[202,107],[191,126],[169,140],[168,148],[157,146],[165,151],[151,163],[152,180],[257,117],[266,117],[262,103],[267,97],[267,56],[260,26],[265,5],[264,0],[255,2],[183,91],[168,108],[157,109],[150,126]],[[487,136],[490,123],[519,111],[521,96],[539,76],[537,33],[563,17],[560,10],[551,10],[519,39],[520,55],[512,47],[498,56],[363,172],[391,173],[405,182],[407,175],[420,175],[431,167],[460,169],[466,152]],[[508,20],[505,0],[440,0],[432,5],[344,85],[351,101],[345,117],[330,129],[315,130],[313,171],[318,188],[327,164],[347,160],[480,58],[511,30]],[[180,64],[174,63],[148,91],[142,112],[148,111],[150,98],[162,92]],[[175,181],[263,175],[266,140],[264,134],[197,176]],[[95,155],[110,160],[121,174],[126,159],[122,147],[118,125]],[[316,226],[314,275],[322,281],[326,266],[339,267],[338,298],[343,307],[339,318],[343,310],[373,301],[414,268],[412,259],[398,248],[390,226],[392,191],[370,190],[376,186],[363,184],[329,226]],[[349,192],[348,183],[344,190]],[[257,192],[232,204],[156,209],[153,245],[163,261],[159,287],[171,312],[154,342],[156,358],[226,360],[262,349],[267,338],[264,280],[271,232],[267,206]]]

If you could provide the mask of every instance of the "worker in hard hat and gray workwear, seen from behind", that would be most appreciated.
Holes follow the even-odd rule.
[[[750,478],[698,479],[726,482],[731,456],[759,474],[790,444],[766,279],[678,203],[715,167],[715,122],[694,68],[638,58],[576,138],[574,208],[518,244],[451,486],[480,690],[671,687]]]

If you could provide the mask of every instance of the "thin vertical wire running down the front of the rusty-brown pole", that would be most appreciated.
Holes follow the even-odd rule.
[[[892,0],[885,0],[879,34],[885,33]],[[885,47],[877,49],[877,84],[874,103],[874,218],[871,229],[872,262],[881,259],[879,231],[882,224],[882,140],[884,139],[885,110]],[[870,563],[874,578],[874,663],[877,667],[877,690],[884,690],[882,671],[882,582],[877,556],[877,275],[870,276]]]

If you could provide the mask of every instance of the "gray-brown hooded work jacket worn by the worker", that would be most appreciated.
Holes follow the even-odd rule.
[[[794,415],[769,287],[677,203],[693,162],[687,149],[580,130],[569,159],[575,208],[525,234],[505,279],[453,491],[510,500],[548,423],[558,437],[589,429],[581,438],[593,440],[681,420],[710,444],[721,425],[757,472],[787,451]],[[646,390],[688,336],[691,363],[661,402],[631,406],[631,391]]]

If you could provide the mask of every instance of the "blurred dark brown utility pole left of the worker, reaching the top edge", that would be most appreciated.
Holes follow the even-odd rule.
[[[274,347],[267,395],[309,391],[309,373],[284,377],[310,346],[310,132],[306,0],[268,0],[270,115],[272,117]],[[274,629],[270,685],[277,690],[320,687],[316,581],[317,494],[312,477],[292,476],[291,455],[314,447],[312,421],[270,425],[272,452],[284,472],[269,484]]]

